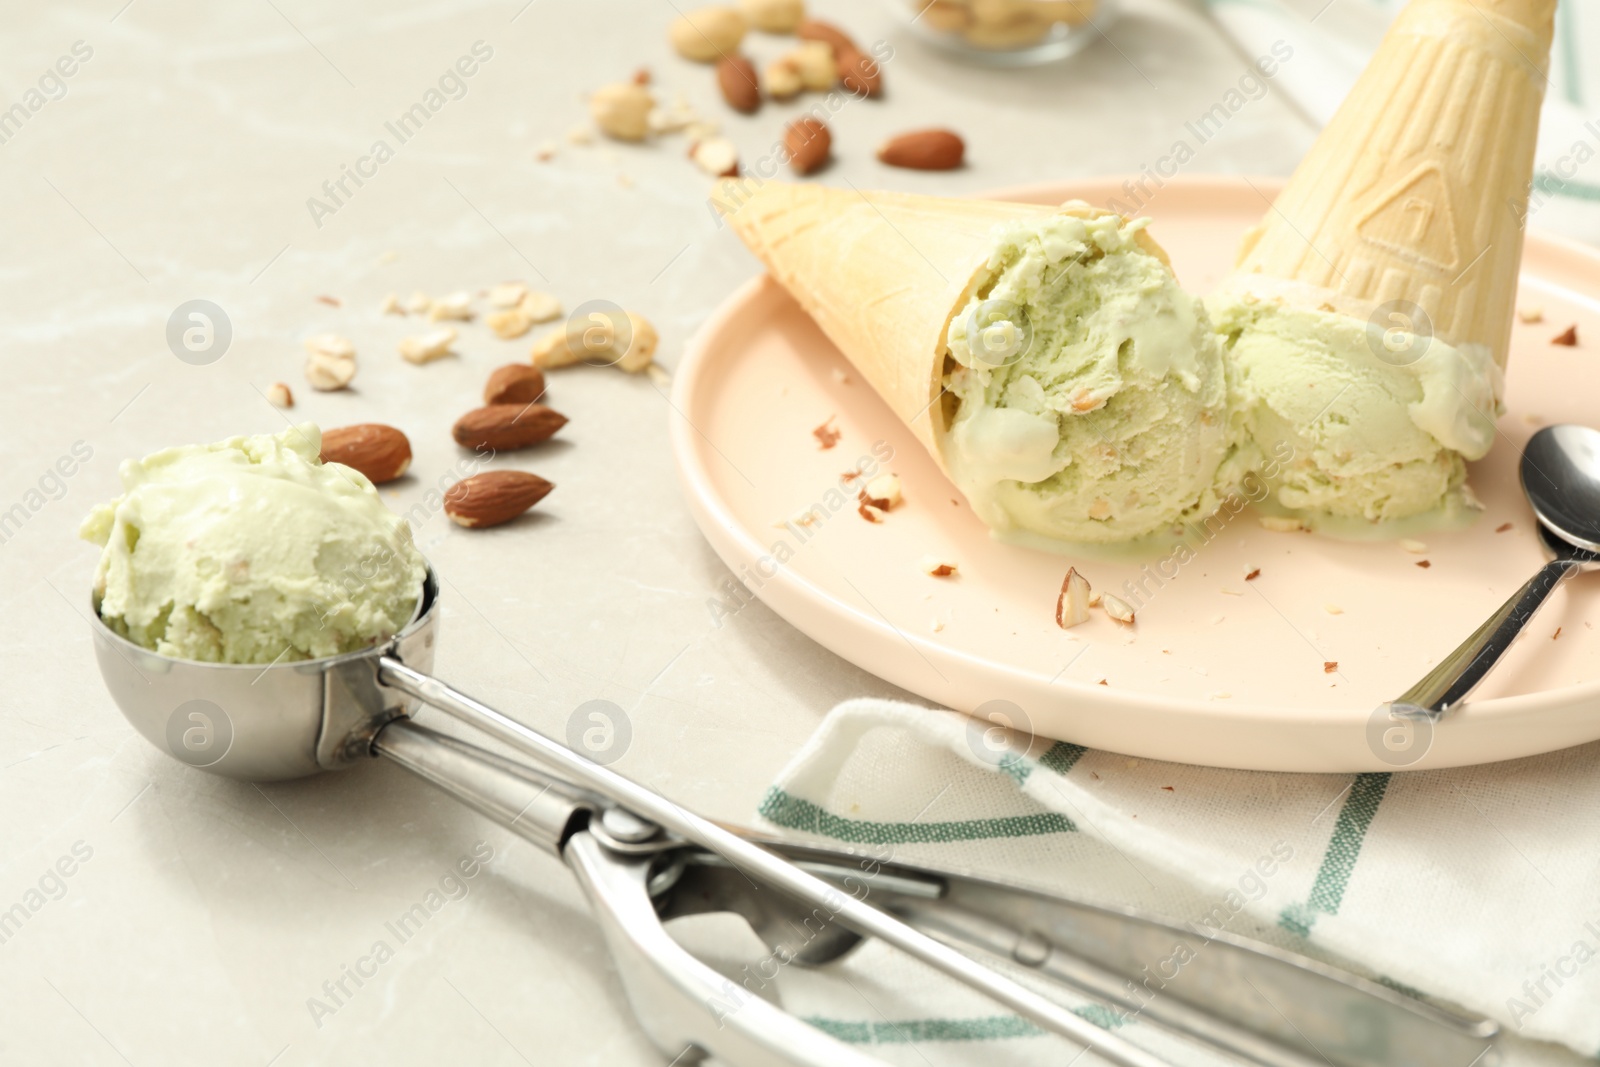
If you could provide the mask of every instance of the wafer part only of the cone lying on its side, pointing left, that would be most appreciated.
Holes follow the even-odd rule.
[[[994,246],[994,227],[1088,205],[1050,208],[810,184],[730,179],[718,211],[768,272],[816,320],[944,466],[936,403],[946,330],[966,306]],[[1165,253],[1146,234],[1147,251]]]

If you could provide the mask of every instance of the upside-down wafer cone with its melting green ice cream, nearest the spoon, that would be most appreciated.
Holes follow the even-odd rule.
[[[1312,517],[1448,517],[1494,438],[1555,0],[1411,0],[1211,301]]]

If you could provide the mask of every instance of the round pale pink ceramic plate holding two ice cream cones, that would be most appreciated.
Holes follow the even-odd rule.
[[[1261,190],[1261,192],[1258,192]],[[1227,272],[1275,182],[1171,181],[1142,211],[1190,291]],[[1122,182],[1005,194],[1106,203]],[[1600,576],[1546,606],[1466,709],[1406,733],[1384,701],[1411,686],[1542,561],[1517,485],[1522,445],[1547,422],[1600,422],[1600,254],[1530,237],[1501,442],[1474,466],[1475,526],[1426,552],[1264,530],[1245,510],[1176,576],[1142,563],[997,544],[910,432],[768,278],[706,323],[678,371],[674,446],[690,507],[734,574],[838,656],[928,701],[973,712],[1010,701],[1035,733],[1213,766],[1370,771],[1486,763],[1600,737]],[[1578,347],[1550,338],[1578,326]],[[822,450],[813,429],[840,434]],[[906,502],[862,520],[840,475],[874,450]],[[821,504],[810,526],[782,522]],[[923,574],[918,560],[958,565]],[[1096,589],[1141,582],[1136,627],[1101,613],[1064,632],[1069,565]],[[1426,565],[1426,566],[1424,566]],[[1254,581],[1250,571],[1259,568]],[[1173,571],[1173,565],[1166,568]],[[730,598],[730,606],[734,603]]]

